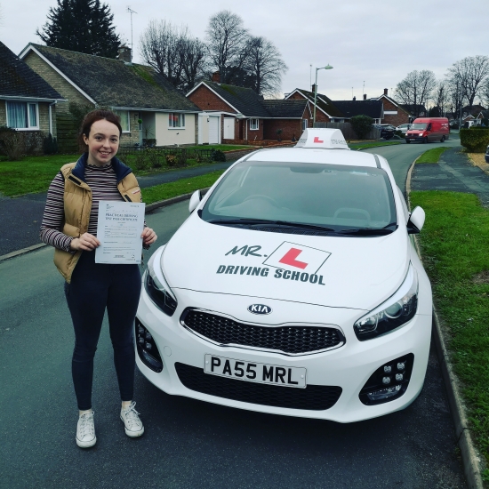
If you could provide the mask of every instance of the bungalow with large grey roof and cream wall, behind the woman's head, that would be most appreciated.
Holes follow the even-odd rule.
[[[121,117],[121,144],[196,144],[200,110],[153,68],[131,62],[131,50],[121,46],[117,60],[82,52],[28,44],[20,53],[30,68],[69,104],[108,107]]]

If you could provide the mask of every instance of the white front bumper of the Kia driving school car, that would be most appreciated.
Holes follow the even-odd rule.
[[[420,297],[421,292],[420,290]],[[244,347],[222,347],[204,340],[180,325],[180,316],[186,306],[220,311],[222,314],[232,316],[233,313],[236,315],[236,311],[246,311],[250,303],[257,301],[256,298],[197,293],[182,289],[176,293],[178,294],[179,305],[172,317],[164,315],[156,308],[144,288],[137,313],[138,321],[148,330],[152,336],[152,341],[156,343],[164,368],[159,373],[154,372],[144,365],[138,354],[136,354],[137,365],[148,381],[151,381],[158,389],[164,390],[167,394],[192,397],[210,403],[261,413],[352,422],[404,409],[421,392],[428,364],[431,334],[431,315],[426,314],[431,308],[429,285],[425,298],[421,297],[418,309],[425,314],[417,314],[404,327],[370,341],[358,341],[353,332],[352,325],[357,318],[365,314],[363,310],[334,309],[310,304],[291,304],[284,301],[267,300],[269,306],[277,311],[277,316],[274,318],[277,325],[290,324],[291,322],[293,324],[304,324],[304,317],[307,317],[309,324],[337,325],[344,333],[346,343],[341,348],[299,356],[288,356]],[[325,321],[325,317],[327,317],[327,321]],[[253,320],[256,321],[256,318]],[[278,407],[277,405],[242,402],[227,398],[225,397],[226,386],[222,388],[221,378],[204,373],[204,356],[206,354],[258,364],[306,368],[308,389],[310,386],[309,393],[306,394],[308,389],[263,384],[253,384],[252,387],[249,384],[253,382],[225,379],[227,382],[232,382],[232,385],[237,389],[242,387],[242,384],[248,384],[245,387],[252,389],[255,398],[260,398],[260,402],[274,404],[273,401],[267,399],[270,396],[273,398],[272,391],[277,391],[277,389],[281,389],[278,391],[278,395],[293,397],[299,401],[291,401],[292,404],[288,404],[293,405],[293,407]],[[414,357],[413,371],[404,394],[380,405],[363,404],[359,398],[359,393],[373,373],[381,365],[410,354],[413,354]],[[195,386],[203,381],[213,382],[212,392],[218,395],[209,395],[197,390],[199,388]],[[340,389],[339,392],[338,389]],[[323,401],[323,404],[314,404],[314,399],[317,399],[317,392],[319,391],[322,393],[322,398],[329,396],[329,405],[327,402],[324,404]],[[219,395],[219,392],[222,394]]]

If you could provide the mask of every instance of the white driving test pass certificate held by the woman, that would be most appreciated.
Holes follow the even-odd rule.
[[[140,263],[144,204],[100,200],[95,263]]]

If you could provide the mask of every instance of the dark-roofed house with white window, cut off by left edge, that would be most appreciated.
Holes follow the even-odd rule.
[[[0,126],[57,136],[56,104],[60,93],[0,43]]]

